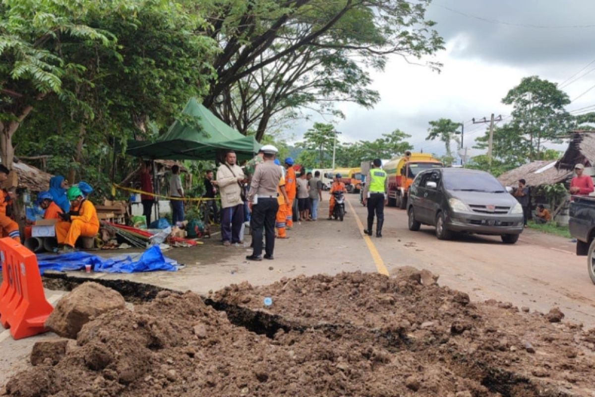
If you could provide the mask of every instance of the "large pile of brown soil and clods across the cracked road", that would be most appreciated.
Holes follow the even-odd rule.
[[[595,334],[433,277],[343,273],[161,292],[87,323],[13,396],[591,396]],[[264,305],[271,298],[272,305]],[[208,300],[209,301],[209,300]],[[553,316],[555,317],[555,316]],[[550,320],[556,318],[550,317]],[[558,315],[559,319],[560,315]],[[253,331],[253,332],[252,332]]]

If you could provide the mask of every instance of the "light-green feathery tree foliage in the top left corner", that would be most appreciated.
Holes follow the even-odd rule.
[[[64,42],[115,50],[115,37],[88,24],[104,2],[13,0],[0,4],[0,149],[12,167],[12,137],[40,101],[71,100],[66,82],[83,79],[84,65],[64,54]]]

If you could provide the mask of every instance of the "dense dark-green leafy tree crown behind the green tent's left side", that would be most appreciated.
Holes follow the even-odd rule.
[[[62,77],[60,92],[38,101],[15,138],[17,154],[52,155],[51,171],[105,182],[115,165],[109,161],[115,141],[151,134],[149,126],[171,123],[189,96],[205,92],[210,76],[196,70],[208,71],[204,64],[215,47],[192,33],[201,20],[168,0],[127,0],[126,6],[84,15],[87,26],[111,39],[108,45],[59,37],[61,62],[77,65],[78,73]]]

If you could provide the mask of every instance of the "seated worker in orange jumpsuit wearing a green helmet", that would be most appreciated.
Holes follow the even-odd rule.
[[[60,214],[61,221],[56,224],[56,238],[62,246],[62,252],[74,250],[80,237],[95,237],[99,232],[99,219],[92,202],[83,197],[78,186],[71,186],[66,192],[70,201],[70,211]]]

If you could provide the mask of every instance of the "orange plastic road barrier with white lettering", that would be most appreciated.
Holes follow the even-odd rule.
[[[43,324],[54,310],[45,300],[37,258],[10,237],[0,239],[2,285],[0,323],[14,339],[46,332]]]

